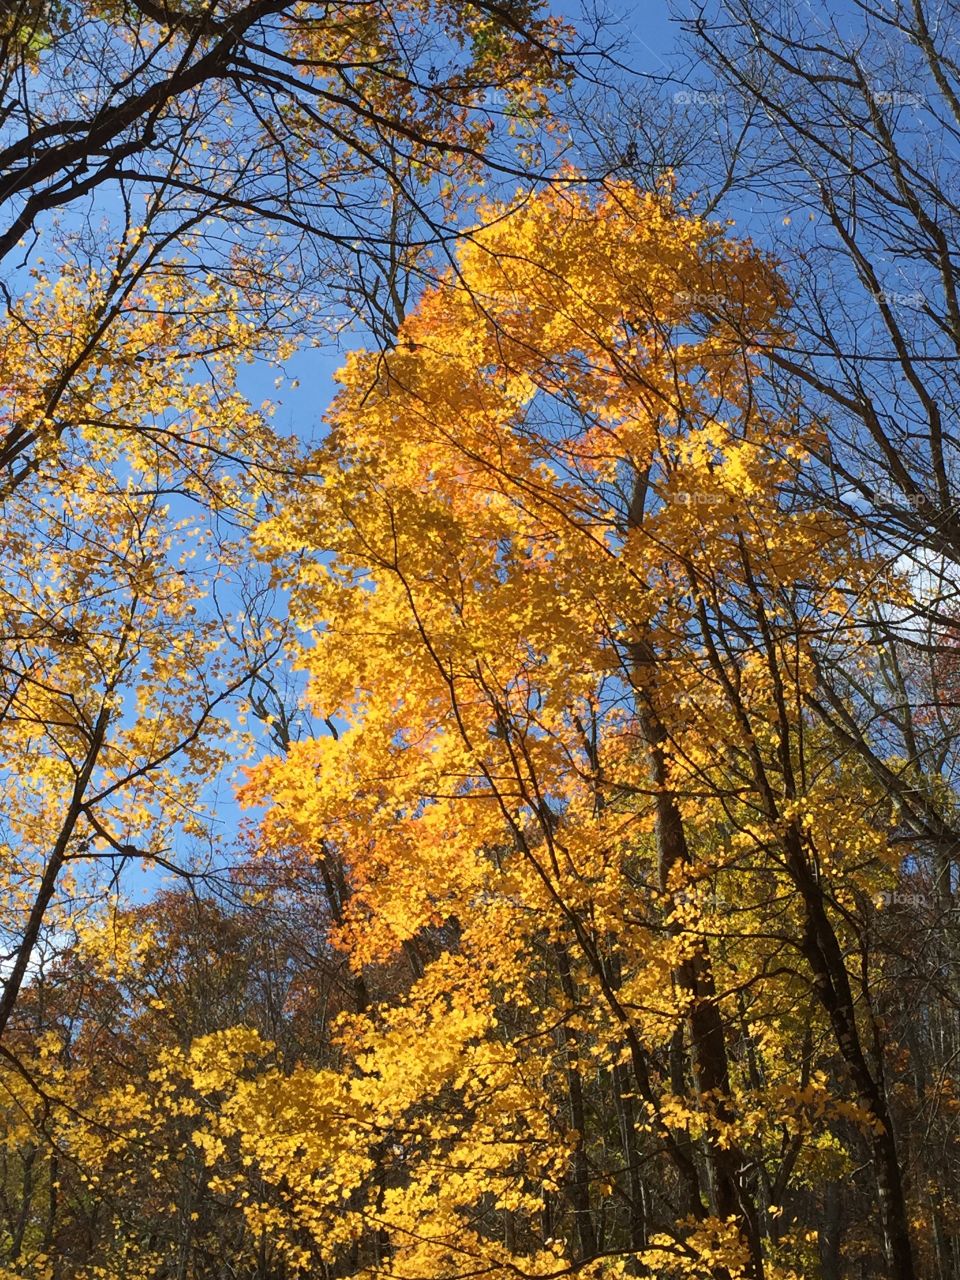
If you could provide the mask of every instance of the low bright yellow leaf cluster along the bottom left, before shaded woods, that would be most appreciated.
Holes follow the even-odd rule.
[[[287,1069],[244,1028],[161,1048],[141,1079],[106,1089],[95,1087],[99,1065],[64,1062],[55,1038],[29,1065],[58,1103],[51,1137],[83,1185],[105,1206],[133,1197],[174,1239],[189,1219],[184,1180],[202,1178],[243,1215],[250,1248],[266,1233],[293,1275],[310,1274],[317,1256],[334,1260],[371,1222],[396,1238],[411,1272],[440,1266],[451,1240],[463,1256],[506,1265],[507,1252],[472,1231],[472,1208],[495,1196],[498,1208],[531,1211],[531,1179],[557,1188],[568,1142],[547,1093],[497,1038],[488,983],[483,964],[448,957],[384,1024],[348,1019],[338,1038],[349,1073]],[[436,1046],[429,1064],[411,1047],[425,1036]],[[31,1085],[22,1076],[4,1076],[3,1087],[8,1101],[22,1100],[19,1128],[5,1128],[15,1151],[31,1138],[36,1105],[23,1106]],[[429,1114],[425,1091],[438,1101]],[[443,1152],[442,1164],[422,1160],[431,1151]],[[118,1248],[138,1276],[169,1262],[119,1224]],[[544,1271],[558,1257],[548,1252]],[[36,1266],[22,1274],[38,1276]]]

